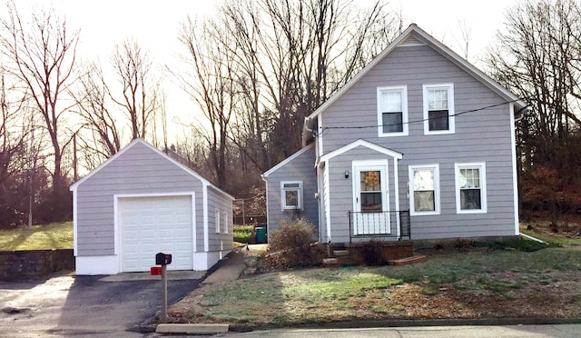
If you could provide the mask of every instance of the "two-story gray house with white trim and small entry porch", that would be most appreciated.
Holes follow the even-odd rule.
[[[515,119],[527,104],[417,25],[305,120],[263,174],[268,227],[323,243],[518,234]]]

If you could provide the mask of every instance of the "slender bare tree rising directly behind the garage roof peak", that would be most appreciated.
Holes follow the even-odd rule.
[[[151,75],[152,61],[136,41],[126,40],[115,47],[112,63],[122,86],[122,95],[113,94],[113,101],[130,120],[132,140],[145,138],[159,104],[159,83]]]

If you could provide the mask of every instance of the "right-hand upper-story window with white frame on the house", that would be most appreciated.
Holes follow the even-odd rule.
[[[454,133],[454,84],[424,84],[424,134]]]

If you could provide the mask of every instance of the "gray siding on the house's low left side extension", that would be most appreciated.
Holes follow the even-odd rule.
[[[276,230],[283,219],[295,216],[293,210],[281,210],[281,182],[302,181],[302,206],[298,216],[304,217],[319,229],[319,201],[317,175],[314,171],[315,149],[310,147],[278,170],[268,175],[268,232]]]

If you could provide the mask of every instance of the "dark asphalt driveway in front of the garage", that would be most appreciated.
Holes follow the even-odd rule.
[[[168,304],[204,273],[169,272]],[[0,337],[143,336],[161,310],[160,276],[126,273],[0,281]]]

